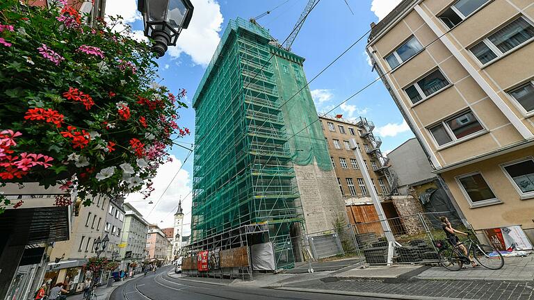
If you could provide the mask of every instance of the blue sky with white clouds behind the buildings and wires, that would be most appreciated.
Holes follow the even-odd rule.
[[[304,69],[308,80],[366,33],[371,22],[378,22],[379,17],[385,17],[399,1],[347,0],[354,14],[350,12],[344,0],[320,1],[309,14],[292,47],[294,53],[306,58]],[[143,22],[136,12],[136,0],[108,0],[107,2],[106,13],[122,15],[127,22],[132,24],[134,34],[142,38],[140,31],[143,28]],[[188,92],[186,101],[193,98],[206,65],[229,19],[236,17],[249,19],[272,10],[286,0],[192,0],[192,2],[195,11],[189,28],[182,31],[177,47],[170,48],[158,62],[161,84],[168,86],[174,92],[177,92],[179,88],[185,88]],[[307,0],[289,0],[280,8],[273,10],[270,15],[258,19],[257,22],[268,28],[273,37],[283,41],[291,33],[306,3]],[[365,45],[366,38],[309,85],[319,113],[330,110],[377,78],[377,74],[371,72],[364,53]],[[375,133],[383,140],[382,151],[394,149],[413,136],[380,81],[330,114],[343,114],[343,117],[348,118],[361,115],[373,120],[377,126]],[[191,107],[183,108],[179,110],[179,115],[181,116],[179,124],[192,131],[191,136],[181,139],[180,142],[193,143],[195,111]],[[183,145],[191,147],[191,144]],[[161,198],[157,206],[141,201],[140,196],[136,194],[127,199],[150,222],[162,227],[172,226],[174,212],[171,210],[177,206],[177,199],[180,197],[184,199],[184,212],[191,211],[191,194],[188,193],[191,191],[193,155],[177,174],[188,151],[175,147],[171,153],[176,160],[161,167],[159,175],[154,178],[156,191],[151,199],[158,202]],[[162,195],[175,174],[177,174],[175,180]],[[186,223],[190,218],[191,215],[186,215]]]

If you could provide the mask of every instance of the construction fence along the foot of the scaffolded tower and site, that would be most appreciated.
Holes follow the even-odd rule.
[[[391,253],[391,263],[437,263],[435,241],[446,240],[439,219],[454,212],[418,213],[386,219],[395,243],[389,244],[380,221],[358,224],[332,224],[330,230],[294,236],[291,240],[293,256],[301,262],[357,258],[363,265],[385,265]],[[458,218],[450,217],[453,228],[469,231]],[[464,236],[459,235],[460,241]],[[287,246],[291,249],[291,245]],[[393,247],[393,251],[389,248]],[[257,271],[273,272],[280,269],[275,261],[272,242],[245,244],[232,249],[208,249],[190,253],[182,260],[182,270],[188,276],[216,276],[252,278]]]

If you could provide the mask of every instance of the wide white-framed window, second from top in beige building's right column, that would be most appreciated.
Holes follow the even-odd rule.
[[[469,50],[480,63],[485,65],[532,40],[534,40],[534,26],[526,18],[519,17]]]

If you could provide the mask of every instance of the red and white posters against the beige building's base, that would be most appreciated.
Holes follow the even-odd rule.
[[[499,251],[533,250],[531,241],[526,237],[521,226],[506,226],[501,228],[484,229],[492,246]]]

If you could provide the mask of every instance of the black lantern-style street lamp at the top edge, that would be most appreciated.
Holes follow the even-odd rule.
[[[138,0],[137,9],[143,15],[145,36],[155,42],[152,50],[161,57],[168,46],[176,46],[182,28],[187,28],[193,16],[190,0]]]

